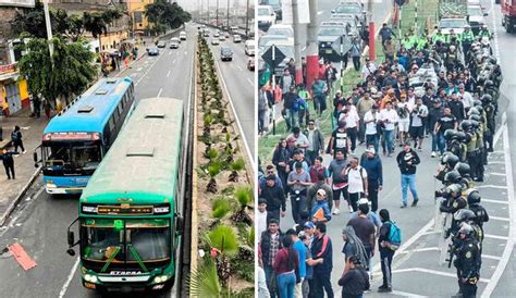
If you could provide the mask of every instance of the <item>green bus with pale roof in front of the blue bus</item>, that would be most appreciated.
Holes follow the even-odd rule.
[[[170,288],[183,229],[183,101],[143,99],[79,199],[67,241],[79,246],[83,286],[101,291]],[[78,239],[71,227],[78,222]]]

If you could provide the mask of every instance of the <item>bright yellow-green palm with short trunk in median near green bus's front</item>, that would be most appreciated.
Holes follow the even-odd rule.
[[[226,225],[219,225],[213,231],[210,231],[205,236],[206,243],[218,253],[217,273],[223,285],[228,284],[231,276],[231,263],[229,257],[238,253],[238,238],[233,227]]]

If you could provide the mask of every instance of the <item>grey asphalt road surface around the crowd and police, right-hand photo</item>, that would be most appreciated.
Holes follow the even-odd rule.
[[[325,3],[325,2],[324,2]],[[501,87],[499,127],[495,151],[490,154],[487,166],[486,181],[478,185],[482,195],[482,206],[491,218],[484,225],[486,239],[483,241],[483,257],[481,281],[478,284],[478,295],[482,297],[513,297],[516,291],[514,277],[516,276],[516,253],[514,239],[516,233],[514,167],[512,157],[516,154],[516,107],[513,97],[516,92],[516,65],[514,49],[516,37],[506,34],[501,26],[500,5],[492,10],[490,1],[484,5],[490,11],[488,25],[495,32],[494,48],[504,74]],[[320,7],[324,7],[320,3]],[[506,122],[505,122],[506,120]],[[373,258],[373,293],[367,296],[388,297],[450,297],[457,291],[455,269],[447,269],[439,263],[438,250],[440,234],[433,229],[434,202],[433,190],[440,187],[433,179],[437,159],[430,158],[430,139],[423,144],[423,151],[419,153],[421,164],[417,171],[417,189],[420,201],[417,208],[400,209],[401,186],[400,172],[394,158],[382,158],[384,189],[380,193],[380,209],[386,208],[391,219],[402,228],[403,246],[396,251],[393,262],[393,289],[391,295],[376,293],[381,285],[381,270],[378,252]],[[364,151],[357,149],[357,153]],[[400,151],[396,148],[396,153]],[[411,196],[409,195],[409,202]],[[333,241],[333,290],[340,296],[337,286],[344,269],[344,258],[341,252],[343,240],[342,228],[346,225],[349,214],[345,211],[346,203],[341,203],[341,214],[333,215],[329,223],[329,235]],[[281,228],[285,231],[293,226],[290,202],[287,216],[281,220]]]

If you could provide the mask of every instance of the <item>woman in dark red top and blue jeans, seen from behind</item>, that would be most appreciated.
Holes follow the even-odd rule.
[[[292,247],[292,237],[283,237],[283,248],[275,254],[273,268],[278,278],[280,298],[294,298],[296,270],[299,266],[297,252]]]

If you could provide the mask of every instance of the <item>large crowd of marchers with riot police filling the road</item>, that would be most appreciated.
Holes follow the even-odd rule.
[[[393,42],[386,25],[381,38],[384,47]],[[382,159],[402,148],[396,154],[401,208],[408,207],[408,190],[411,207],[417,207],[416,170],[426,158],[421,156],[426,138],[431,138],[429,158],[439,157],[443,165],[437,178],[444,188],[435,196],[442,202],[441,212],[450,214],[444,233],[451,243],[449,259],[455,257],[460,295],[475,297],[481,227],[489,216],[474,183],[483,181],[487,157],[493,151],[502,82],[500,65],[486,42],[489,38],[487,28],[475,36],[469,26],[462,35],[447,36],[439,28],[431,36],[410,30],[396,52],[390,54],[389,45],[384,48],[383,62],[365,59],[364,82],[349,96],[336,90],[334,98],[328,98],[336,71],[323,61],[309,90],[305,84],[295,85],[292,61],[277,89],[271,84],[261,87],[260,133],[269,123],[265,111],[278,102],[283,102],[290,132],[279,141],[271,164],[259,169],[259,261],[271,297],[323,297],[324,293],[333,297],[332,239],[327,224],[341,213],[341,198],[352,213],[343,231],[342,296],[359,297],[369,290],[377,248],[383,272],[378,290],[392,290],[391,263],[401,229],[386,209],[377,213]],[[336,123],[331,133],[318,127],[325,109],[333,109]],[[358,157],[360,146],[366,149]],[[331,157],[329,164],[324,157]],[[295,226],[283,233],[280,223],[288,208]]]

